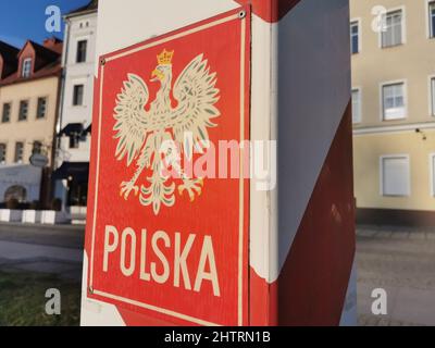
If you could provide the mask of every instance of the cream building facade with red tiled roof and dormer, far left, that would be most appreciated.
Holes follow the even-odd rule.
[[[0,42],[0,202],[49,203],[61,54],[55,38],[21,50]],[[46,156],[48,167],[33,167],[34,153]]]

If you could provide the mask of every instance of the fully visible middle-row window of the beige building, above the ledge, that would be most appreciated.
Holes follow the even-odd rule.
[[[406,105],[405,105],[405,84],[390,84],[382,87],[383,98],[383,119],[398,120],[405,119]]]

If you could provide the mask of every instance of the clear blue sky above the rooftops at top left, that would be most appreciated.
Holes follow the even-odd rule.
[[[1,0],[0,40],[21,48],[26,39],[41,44],[53,34],[63,39],[63,25],[61,33],[46,30],[46,8],[57,5],[63,15],[88,2],[89,0]]]

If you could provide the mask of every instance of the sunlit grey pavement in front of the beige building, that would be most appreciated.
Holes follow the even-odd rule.
[[[357,229],[360,325],[435,325],[435,231]],[[387,291],[387,315],[371,313],[374,288]]]

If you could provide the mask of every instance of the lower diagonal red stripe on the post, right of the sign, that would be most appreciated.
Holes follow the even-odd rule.
[[[338,325],[355,245],[349,102],[278,279],[250,270],[250,324]]]

